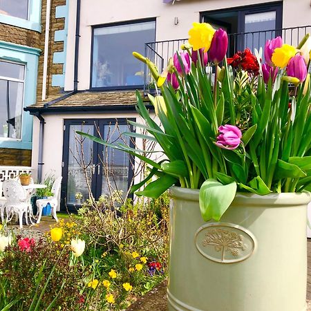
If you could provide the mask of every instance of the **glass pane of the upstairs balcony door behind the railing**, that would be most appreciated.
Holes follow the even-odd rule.
[[[245,15],[245,32],[254,32],[245,35],[245,48],[250,48],[253,52],[255,48],[263,48],[267,39],[275,37],[275,28],[276,11]]]

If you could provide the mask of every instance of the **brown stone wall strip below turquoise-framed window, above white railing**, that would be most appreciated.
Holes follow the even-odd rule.
[[[0,148],[0,165],[31,167],[31,150]]]

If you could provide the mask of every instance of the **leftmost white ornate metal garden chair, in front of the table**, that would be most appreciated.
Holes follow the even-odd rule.
[[[14,214],[19,216],[19,228],[23,227],[23,214],[28,225],[28,196],[19,182],[5,180],[3,182],[3,194],[6,198],[6,219],[12,220]]]

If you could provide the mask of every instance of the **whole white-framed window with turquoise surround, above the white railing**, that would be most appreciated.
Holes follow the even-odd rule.
[[[25,66],[0,61],[0,138],[21,138]]]

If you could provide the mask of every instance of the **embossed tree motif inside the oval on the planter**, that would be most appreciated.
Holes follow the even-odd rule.
[[[236,232],[230,232],[225,229],[212,229],[205,236],[206,238],[202,245],[214,246],[217,252],[222,252],[222,261],[225,259],[225,252],[230,252],[232,256],[238,256],[239,251],[245,249],[242,236],[236,234]]]

